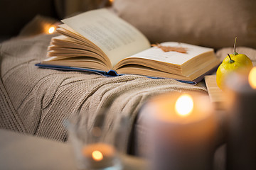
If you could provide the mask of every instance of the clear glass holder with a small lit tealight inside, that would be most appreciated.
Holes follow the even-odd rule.
[[[97,119],[102,121],[103,118],[98,116]],[[103,139],[102,123],[97,123],[97,120],[95,122],[94,127],[88,128],[85,121],[78,115],[65,121],[78,169],[122,169],[114,143]]]

